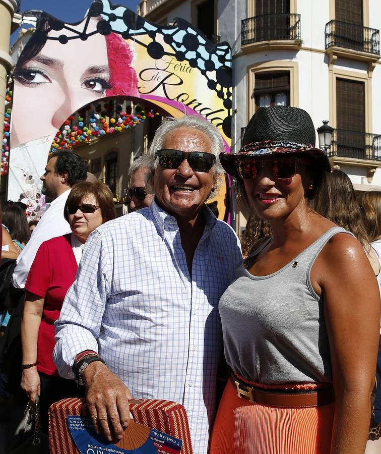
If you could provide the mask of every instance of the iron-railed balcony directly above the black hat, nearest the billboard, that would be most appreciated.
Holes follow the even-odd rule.
[[[242,46],[264,41],[274,41],[273,45],[300,47],[300,14],[265,14],[243,19]]]

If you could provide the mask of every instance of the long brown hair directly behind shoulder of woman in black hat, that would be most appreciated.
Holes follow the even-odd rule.
[[[340,170],[327,173],[323,178],[319,196],[313,200],[312,208],[352,232],[365,251],[369,250],[369,238],[361,217],[360,206],[347,174]]]

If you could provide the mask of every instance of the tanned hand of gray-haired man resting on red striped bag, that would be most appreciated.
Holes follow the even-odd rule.
[[[130,424],[130,389],[100,361],[89,364],[82,378],[96,432],[102,432],[108,441],[120,440]]]

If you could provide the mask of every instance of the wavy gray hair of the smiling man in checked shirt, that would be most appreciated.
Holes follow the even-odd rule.
[[[218,129],[207,120],[196,115],[184,116],[180,119],[174,119],[172,117],[164,118],[159,128],[156,130],[155,137],[151,142],[148,153],[144,155],[144,166],[147,167],[146,173],[146,189],[148,192],[153,193],[151,186],[151,172],[157,167],[158,158],[156,156],[157,150],[163,148],[165,136],[175,129],[179,128],[192,128],[197,129],[207,135],[212,142],[212,149],[205,150],[211,151],[215,156],[216,160],[212,167],[214,176],[222,174],[224,169],[220,163],[220,153],[224,151],[224,143]]]

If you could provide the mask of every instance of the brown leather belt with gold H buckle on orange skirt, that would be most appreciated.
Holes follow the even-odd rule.
[[[262,389],[250,386],[233,373],[230,380],[237,389],[240,399],[247,399],[251,403],[270,405],[281,408],[307,408],[328,405],[335,401],[333,387],[316,390],[288,390],[285,389]]]

